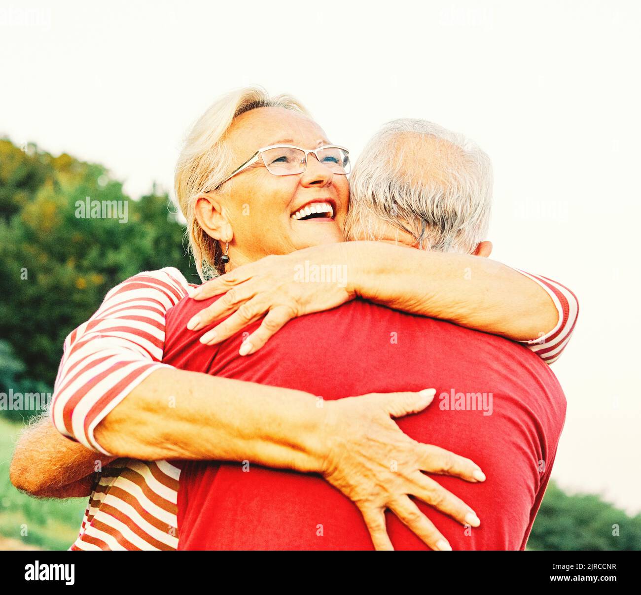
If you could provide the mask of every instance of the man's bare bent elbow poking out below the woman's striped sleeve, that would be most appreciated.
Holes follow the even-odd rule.
[[[47,416],[22,431],[9,477],[17,489],[31,496],[89,496],[96,473],[114,458],[65,438]]]

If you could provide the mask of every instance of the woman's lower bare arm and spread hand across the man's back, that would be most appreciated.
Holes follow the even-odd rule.
[[[467,458],[410,439],[391,419],[422,410],[434,394],[431,389],[319,401],[298,390],[162,369],[105,415],[95,437],[120,457],[247,460],[319,473],[358,506],[377,549],[392,548],[387,508],[432,549],[449,549],[410,496],[462,524],[480,521],[421,472],[469,482],[485,476]],[[395,471],[392,460],[398,462]]]

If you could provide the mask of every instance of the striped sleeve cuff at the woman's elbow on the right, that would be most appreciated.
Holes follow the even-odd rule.
[[[524,344],[540,356],[546,364],[553,364],[560,357],[563,349],[565,349],[567,342],[572,336],[572,331],[574,331],[576,319],[579,315],[578,299],[576,299],[576,296],[567,289],[567,287],[561,285],[561,283],[558,283],[557,281],[553,281],[540,275],[533,275],[529,272],[520,271],[519,269],[516,270],[545,289],[550,298],[552,298],[552,301],[556,306],[556,310],[558,311],[559,321],[556,323],[556,326],[549,331],[549,333],[542,335],[537,339],[519,341],[519,343]]]

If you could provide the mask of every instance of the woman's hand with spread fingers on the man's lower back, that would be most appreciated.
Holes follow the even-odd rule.
[[[452,549],[410,496],[462,524],[480,524],[474,510],[421,473],[482,482],[485,475],[478,465],[469,458],[412,440],[391,419],[419,412],[431,403],[434,394],[435,390],[429,389],[324,403],[329,455],[323,476],[358,506],[376,549],[394,549],[385,528],[386,508],[430,548]]]

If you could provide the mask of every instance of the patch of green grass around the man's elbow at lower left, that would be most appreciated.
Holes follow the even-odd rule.
[[[24,546],[69,549],[78,537],[87,498],[37,499],[13,487],[9,463],[21,429],[0,417],[0,535]]]

